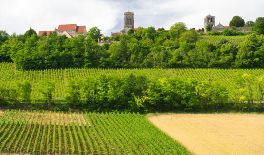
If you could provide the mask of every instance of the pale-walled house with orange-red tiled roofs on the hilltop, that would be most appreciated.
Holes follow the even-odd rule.
[[[57,35],[66,35],[68,38],[74,38],[78,35],[87,35],[86,26],[77,26],[77,24],[63,24],[59,25],[58,29],[55,28]],[[51,31],[46,31],[47,36]],[[39,36],[41,36],[44,31],[39,31]]]

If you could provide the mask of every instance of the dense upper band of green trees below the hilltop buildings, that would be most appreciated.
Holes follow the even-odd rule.
[[[255,24],[256,25],[256,24]],[[264,28],[263,28],[264,29]],[[4,32],[4,31],[2,31]],[[258,31],[261,32],[261,31]],[[223,39],[212,45],[197,39],[194,29],[175,23],[170,31],[154,27],[129,30],[116,36],[118,43],[99,46],[100,29],[88,36],[67,38],[56,33],[5,37],[0,43],[0,62],[14,62],[18,70],[49,68],[261,68],[264,66],[264,36],[250,34],[240,44]],[[4,33],[2,33],[4,34]]]

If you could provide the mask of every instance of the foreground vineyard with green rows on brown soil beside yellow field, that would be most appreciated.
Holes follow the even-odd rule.
[[[144,116],[131,113],[0,113],[0,153],[190,155]]]

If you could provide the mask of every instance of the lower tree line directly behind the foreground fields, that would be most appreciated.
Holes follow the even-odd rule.
[[[234,77],[236,87],[228,90],[219,81],[183,80],[177,77],[150,78],[130,74],[73,79],[67,84],[66,97],[55,102],[54,81],[38,85],[41,94],[37,102],[31,99],[31,84],[17,82],[12,88],[0,88],[1,107],[34,107],[36,109],[127,112],[168,111],[263,111],[264,75],[243,74]],[[235,98],[229,97],[235,91]],[[41,104],[39,103],[41,102]]]

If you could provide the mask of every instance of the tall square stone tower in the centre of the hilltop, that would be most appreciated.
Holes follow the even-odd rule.
[[[134,13],[128,11],[124,13],[124,29],[120,30],[120,34],[127,34],[131,28],[134,29]]]

